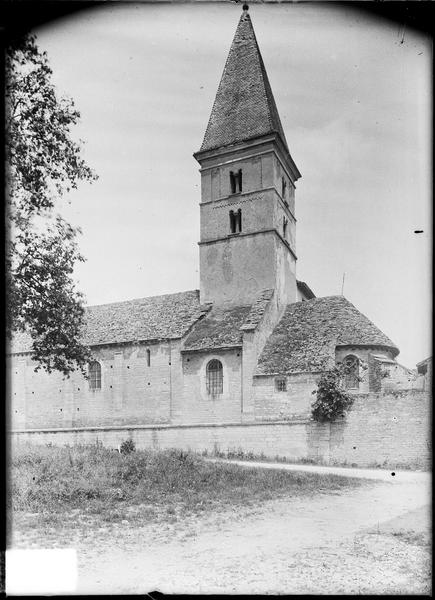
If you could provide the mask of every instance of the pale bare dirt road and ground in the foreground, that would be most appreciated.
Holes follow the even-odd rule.
[[[429,474],[385,473],[335,494],[175,514],[163,526],[96,530],[82,520],[44,540],[14,531],[13,545],[76,548],[81,594],[429,594],[429,502]]]

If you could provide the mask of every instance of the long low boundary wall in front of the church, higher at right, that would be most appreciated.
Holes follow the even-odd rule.
[[[309,419],[199,425],[131,425],[10,432],[12,444],[96,444],[116,448],[242,450],[267,457],[323,464],[424,468],[431,465],[431,402],[415,390],[355,398],[343,421]]]

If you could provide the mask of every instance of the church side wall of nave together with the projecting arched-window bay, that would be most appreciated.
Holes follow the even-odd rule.
[[[94,347],[101,365],[97,390],[80,372],[69,379],[35,372],[30,355],[14,355],[7,367],[11,428],[241,422],[241,348],[183,354],[180,348],[179,340]],[[224,366],[224,393],[215,399],[206,392],[212,358]]]

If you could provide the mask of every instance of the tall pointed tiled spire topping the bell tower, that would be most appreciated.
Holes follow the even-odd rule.
[[[272,132],[280,135],[287,148],[248,10],[244,4],[201,151]]]

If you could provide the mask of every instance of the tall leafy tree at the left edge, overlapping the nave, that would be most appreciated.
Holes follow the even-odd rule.
[[[36,370],[84,372],[83,296],[72,273],[78,228],[56,203],[96,175],[71,137],[80,113],[58,97],[47,54],[27,35],[6,49],[6,329],[32,338]]]

